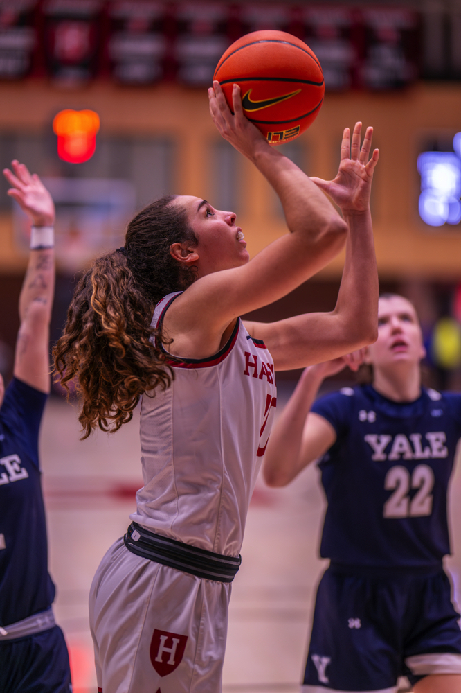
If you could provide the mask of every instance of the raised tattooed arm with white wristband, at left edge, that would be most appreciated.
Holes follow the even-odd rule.
[[[50,391],[48,356],[49,326],[55,288],[53,225],[55,205],[36,174],[12,161],[12,171],[3,170],[16,200],[30,218],[33,228],[26,277],[19,296],[21,325],[15,350],[15,377],[42,392]]]

